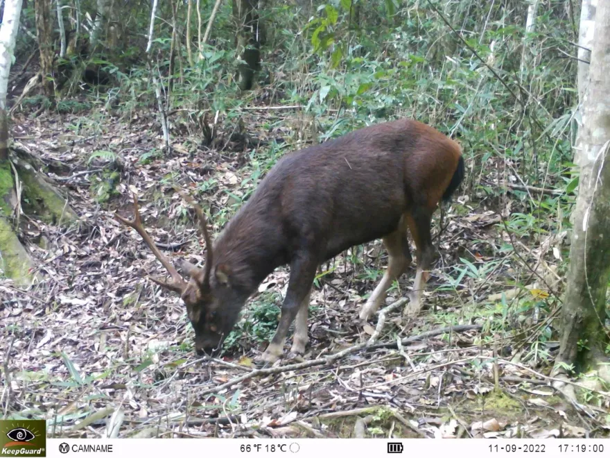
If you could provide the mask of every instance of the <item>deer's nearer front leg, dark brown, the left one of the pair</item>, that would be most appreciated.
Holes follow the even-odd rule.
[[[279,324],[271,343],[269,343],[265,353],[261,355],[259,362],[274,363],[284,353],[288,328],[295,321],[295,316],[297,316],[297,312],[299,312],[304,301],[307,300],[308,302],[316,269],[317,260],[308,254],[299,255],[290,263],[290,280],[288,281],[288,291],[286,291],[284,304],[281,306]],[[302,334],[302,324],[299,323],[299,330],[297,330],[299,331],[299,338],[302,338],[302,335],[300,335]]]

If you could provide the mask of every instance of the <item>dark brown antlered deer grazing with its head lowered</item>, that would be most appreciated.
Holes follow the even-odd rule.
[[[417,270],[403,313],[416,316],[433,261],[433,213],[462,183],[464,159],[458,142],[413,119],[354,130],[342,137],[287,153],[268,171],[252,196],[213,242],[207,219],[193,198],[206,246],[203,267],[180,265],[186,281],[159,251],[141,222],[134,194],[134,219],[115,214],[136,230],[171,280],[150,278],[180,294],[195,331],[195,352],[212,355],[232,331],[239,313],[263,280],[288,265],[290,277],[276,332],[256,364],[272,364],[284,354],[295,323],[288,358],[304,355],[308,307],[318,266],[353,246],[381,239],[387,251],[383,278],[360,309],[368,321],[385,302],[387,289],[412,262]]]

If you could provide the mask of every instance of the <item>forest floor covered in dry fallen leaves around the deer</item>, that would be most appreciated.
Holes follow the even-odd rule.
[[[270,151],[295,148],[284,141],[297,137],[302,118],[294,110],[247,110],[234,128],[221,121],[205,146],[186,115],[176,116],[169,154],[153,117],[43,114],[15,122],[15,145],[52,166],[49,177],[81,221],[65,228],[21,218],[44,282],[23,292],[0,280],[3,413],[47,418],[51,434],[64,437],[101,437],[115,425],[121,437],[608,436],[607,393],[592,389],[573,403],[550,385],[559,315],[553,288],[561,289],[565,241],[509,235],[498,209],[519,207],[510,194],[507,206],[480,192],[455,196],[435,240],[425,309],[415,319],[400,310],[387,316],[377,340],[387,348],[228,386],[254,370],[277,323],[287,269],[259,287],[225,354],[203,361],[177,296],[148,280],[164,277],[162,266],[113,219],[114,211],[132,216],[135,190],[164,252],[204,260],[193,212],[171,185],[198,194],[218,234],[275,160]],[[494,173],[485,180],[493,185]],[[374,332],[376,318],[365,324],[358,312],[385,268],[380,248],[368,244],[322,267],[304,362]],[[406,295],[413,274],[414,266],[387,303]],[[538,285],[538,276],[548,282]],[[449,325],[472,326],[397,345],[397,336]]]

